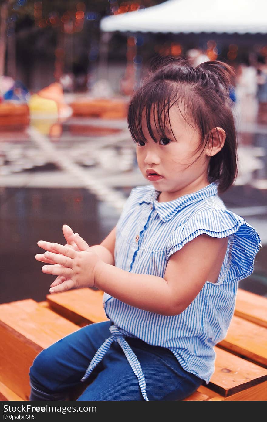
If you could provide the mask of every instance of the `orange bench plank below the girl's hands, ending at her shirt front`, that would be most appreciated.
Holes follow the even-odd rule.
[[[73,289],[47,295],[46,298],[51,309],[77,325],[108,321],[102,304],[102,291]]]

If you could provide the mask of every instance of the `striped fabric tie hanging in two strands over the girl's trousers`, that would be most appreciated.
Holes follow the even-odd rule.
[[[97,364],[99,362],[101,362],[104,355],[108,352],[108,349],[110,348],[113,341],[116,341],[121,346],[121,349],[123,350],[128,362],[129,362],[129,365],[131,366],[132,370],[134,371],[135,375],[137,376],[138,384],[139,384],[143,398],[148,401],[148,398],[147,398],[147,395],[146,395],[145,376],[143,374],[141,365],[139,363],[139,360],[138,360],[136,354],[132,351],[129,344],[127,343],[127,341],[123,337],[123,334],[119,330],[119,327],[117,327],[116,325],[111,325],[109,327],[109,330],[111,332],[111,336],[97,350],[96,354],[94,355],[93,359],[90,362],[90,365],[86,369],[86,373],[84,374],[81,381],[85,381],[89,377],[89,375],[93,371],[93,369],[97,366]]]

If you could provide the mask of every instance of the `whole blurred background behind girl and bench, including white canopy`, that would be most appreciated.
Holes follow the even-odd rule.
[[[0,303],[45,300],[37,241],[67,224],[100,243],[147,183],[127,104],[166,57],[235,68],[239,173],[221,199],[262,239],[240,287],[267,297],[266,16],[266,0],[0,1]]]

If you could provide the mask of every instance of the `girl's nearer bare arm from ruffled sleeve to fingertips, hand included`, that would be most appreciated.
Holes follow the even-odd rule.
[[[80,240],[77,238],[77,241]],[[42,270],[67,277],[66,285],[63,288],[57,286],[50,290],[51,293],[72,287],[94,286],[136,308],[162,315],[177,315],[189,306],[206,281],[218,279],[227,242],[227,237],[197,236],[171,255],[164,278],[116,268],[101,261],[92,248],[75,252],[55,243],[53,248],[65,256],[51,252],[44,255],[65,268],[51,265]]]

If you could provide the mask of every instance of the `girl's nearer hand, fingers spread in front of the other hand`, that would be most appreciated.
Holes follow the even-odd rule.
[[[80,236],[76,236],[77,239],[80,238]],[[78,241],[81,241],[81,238]],[[51,243],[51,248],[56,253],[45,252],[44,257],[50,262],[54,262],[55,265],[44,265],[42,271],[46,274],[64,276],[66,280],[55,287],[51,287],[50,293],[63,292],[73,287],[94,287],[95,273],[102,261],[92,249],[77,252],[59,243]],[[60,267],[57,264],[62,266]]]

